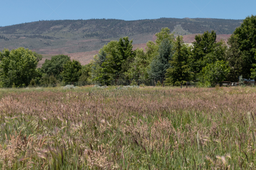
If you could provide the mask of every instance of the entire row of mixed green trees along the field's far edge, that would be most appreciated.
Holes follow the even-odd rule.
[[[87,65],[71,61],[67,55],[56,55],[45,60],[41,68],[36,67],[42,55],[22,47],[4,49],[0,52],[0,86],[90,81],[91,75],[108,80],[117,73],[126,79],[153,75],[160,81],[164,77],[166,85],[198,82],[214,86],[221,81],[237,82],[240,76],[256,78],[256,16],[244,19],[228,45],[216,41],[215,31],[196,35],[192,44],[185,44],[182,36],[175,39],[165,27],[156,33],[155,42],[147,42],[145,51],[132,50],[132,40],[123,37],[104,45]]]

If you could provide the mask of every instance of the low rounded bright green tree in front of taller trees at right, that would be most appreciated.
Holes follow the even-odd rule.
[[[207,64],[199,74],[200,83],[207,86],[215,86],[225,80],[230,69],[225,61],[216,61]]]

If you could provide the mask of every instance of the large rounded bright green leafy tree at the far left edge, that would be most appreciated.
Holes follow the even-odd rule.
[[[3,87],[29,85],[36,76],[37,59],[23,47],[0,52],[0,83]]]

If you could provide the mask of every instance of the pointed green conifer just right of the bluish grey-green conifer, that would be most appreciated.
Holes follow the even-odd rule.
[[[188,65],[189,57],[191,54],[191,48],[183,42],[183,37],[178,36],[174,44],[175,53],[172,56],[172,60],[169,61],[170,68],[167,69],[166,84],[168,85],[180,85],[186,84],[190,80],[191,71]]]

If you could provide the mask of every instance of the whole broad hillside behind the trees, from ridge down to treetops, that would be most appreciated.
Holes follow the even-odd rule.
[[[0,27],[0,50],[24,47],[41,54],[70,54],[74,58],[75,54],[79,54],[79,60],[88,63],[92,54],[84,58],[87,56],[85,52],[99,50],[109,41],[123,36],[133,39],[133,44],[136,44],[134,46],[142,47],[147,41],[154,41],[155,33],[162,27],[169,27],[175,35],[184,35],[185,42],[192,42],[195,34],[207,30],[215,30],[217,34],[231,34],[242,21],[212,18],[36,21]]]

